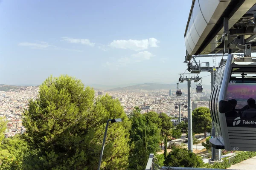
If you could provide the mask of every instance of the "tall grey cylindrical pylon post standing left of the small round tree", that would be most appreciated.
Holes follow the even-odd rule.
[[[191,109],[191,80],[188,79],[188,150],[193,151],[192,137],[192,109]]]

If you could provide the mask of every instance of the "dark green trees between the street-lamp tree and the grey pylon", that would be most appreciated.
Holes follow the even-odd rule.
[[[144,170],[150,153],[159,150],[161,119],[155,112],[141,114],[138,107],[129,116],[130,130],[130,170]]]

